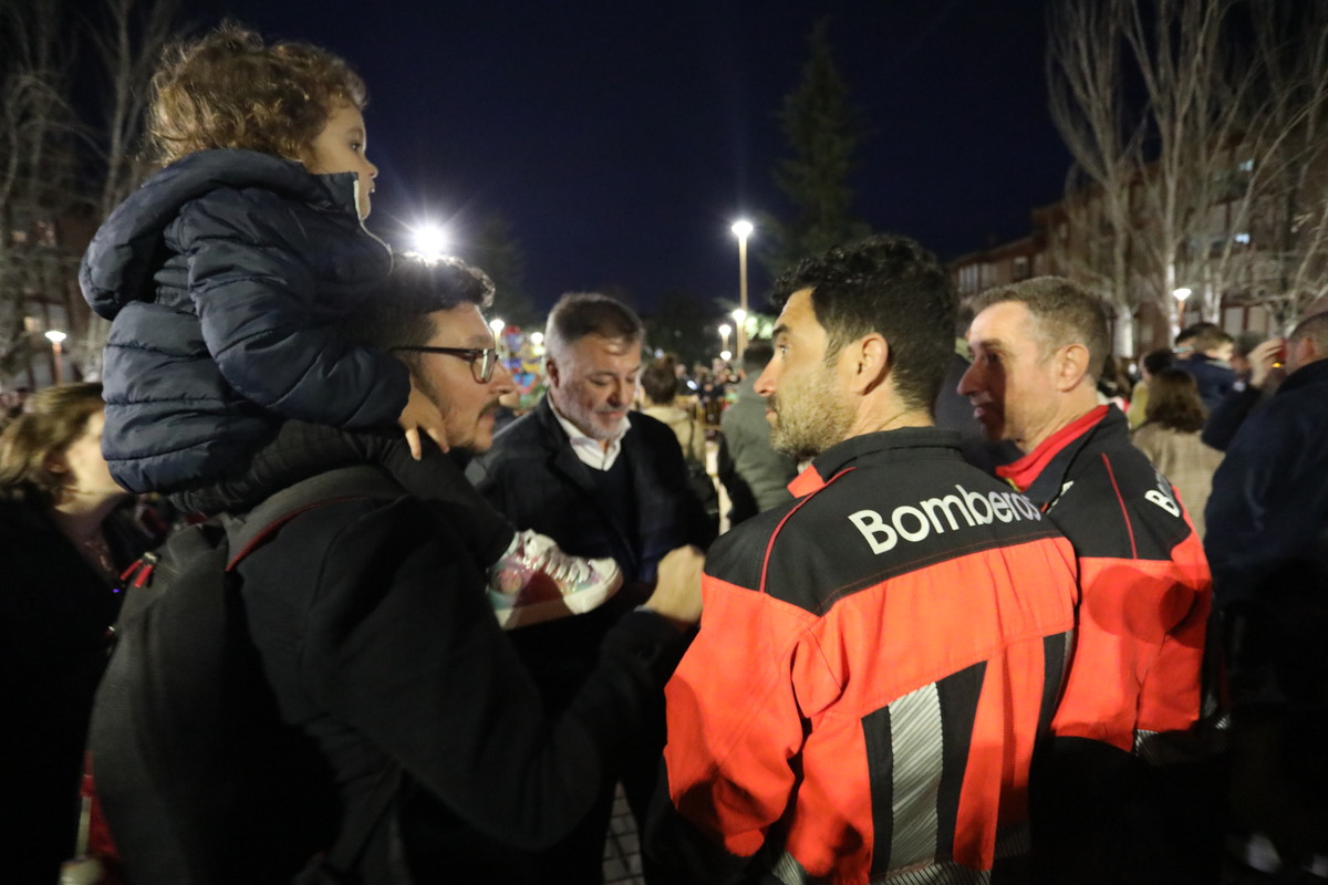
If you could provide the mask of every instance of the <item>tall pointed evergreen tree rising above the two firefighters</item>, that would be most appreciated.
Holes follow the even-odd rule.
[[[793,203],[795,216],[791,223],[764,222],[773,232],[772,248],[762,256],[772,273],[871,232],[851,216],[849,176],[857,167],[862,126],[835,68],[825,20],[813,28],[809,46],[802,82],[785,96],[778,114],[793,155],[776,166],[774,182]]]

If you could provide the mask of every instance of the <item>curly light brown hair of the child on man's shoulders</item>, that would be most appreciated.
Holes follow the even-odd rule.
[[[367,101],[364,81],[331,52],[303,42],[268,46],[227,21],[162,54],[149,130],[162,166],[218,147],[303,162],[337,107],[363,110]]]

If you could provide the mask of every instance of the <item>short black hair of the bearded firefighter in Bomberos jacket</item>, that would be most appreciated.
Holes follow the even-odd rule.
[[[811,289],[817,322],[826,330],[827,362],[850,341],[879,333],[890,345],[899,397],[910,407],[932,409],[955,352],[957,303],[931,252],[892,234],[835,247],[776,280],[776,308],[782,310],[802,289]]]

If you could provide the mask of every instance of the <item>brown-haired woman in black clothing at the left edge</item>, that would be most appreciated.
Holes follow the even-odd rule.
[[[121,572],[146,548],[101,456],[101,385],[48,387],[0,434],[0,832],[5,881],[74,851],[93,693]]]

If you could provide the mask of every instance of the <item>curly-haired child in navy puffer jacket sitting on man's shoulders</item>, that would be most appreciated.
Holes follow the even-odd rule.
[[[378,174],[364,81],[324,49],[264,45],[227,24],[169,52],[153,93],[163,167],[112,212],[80,268],[84,297],[112,321],[102,450],[116,482],[211,512],[190,504],[238,500],[216,490],[316,439],[301,426],[396,425],[417,460],[420,431],[445,446],[442,415],[406,368],[336,329],[392,268],[363,224]],[[475,549],[506,551],[490,569],[506,597],[550,573],[563,594],[620,584],[611,561],[515,533],[463,479],[437,475]]]

